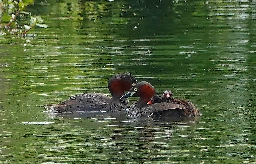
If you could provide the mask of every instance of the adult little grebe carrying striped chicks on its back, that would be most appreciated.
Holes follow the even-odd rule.
[[[129,92],[124,94],[121,99],[135,96],[141,99],[135,101],[128,112],[132,117],[176,117],[186,116],[186,107],[183,104],[174,104],[167,102],[159,102],[154,104],[147,104],[153,96],[156,95],[154,87],[146,82],[141,81],[133,86]]]

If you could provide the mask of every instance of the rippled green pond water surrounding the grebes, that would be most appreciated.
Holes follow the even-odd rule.
[[[47,29],[0,36],[0,163],[255,163],[256,1],[35,1]],[[26,43],[26,46],[24,46]],[[196,120],[56,116],[129,71]],[[132,102],[136,98],[130,99]]]

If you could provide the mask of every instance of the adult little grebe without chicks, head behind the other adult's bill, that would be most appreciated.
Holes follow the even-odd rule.
[[[48,105],[47,109],[55,109],[58,113],[119,111],[130,107],[128,99],[120,99],[125,91],[129,91],[137,83],[130,73],[120,73],[108,81],[109,97],[102,93],[82,93],[57,104]]]

